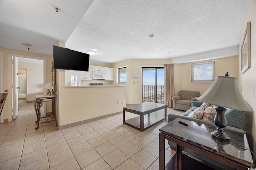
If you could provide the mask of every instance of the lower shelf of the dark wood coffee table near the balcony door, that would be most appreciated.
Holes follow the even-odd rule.
[[[143,130],[148,129],[165,119],[164,115],[159,113],[154,113],[154,112],[148,113],[146,115],[141,115],[141,116],[144,116],[144,127],[142,127]],[[128,119],[124,123],[128,126],[134,127],[135,129],[141,130],[140,115],[137,117]]]

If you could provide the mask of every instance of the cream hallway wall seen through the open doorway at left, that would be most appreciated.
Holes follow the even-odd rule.
[[[27,101],[35,101],[44,93],[44,65],[18,62],[18,68],[27,70]]]

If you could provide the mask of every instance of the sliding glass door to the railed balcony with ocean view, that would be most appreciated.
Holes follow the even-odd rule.
[[[164,68],[142,67],[142,103],[164,104]]]

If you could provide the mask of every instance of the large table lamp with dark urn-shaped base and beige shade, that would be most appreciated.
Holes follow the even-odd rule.
[[[224,107],[240,111],[252,111],[245,102],[235,77],[217,76],[210,88],[197,100],[218,106],[215,108],[216,115],[214,117],[217,130],[211,134],[212,137],[222,141],[230,140],[230,137],[223,130],[227,126]]]

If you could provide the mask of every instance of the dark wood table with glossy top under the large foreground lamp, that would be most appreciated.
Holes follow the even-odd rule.
[[[178,123],[186,121],[188,126]],[[182,147],[200,153],[222,164],[242,170],[254,168],[246,135],[225,130],[230,142],[218,141],[211,137],[215,126],[202,124],[200,127],[194,121],[177,118],[159,129],[159,170],[164,169],[210,169],[191,157],[182,154]],[[165,166],[165,139],[176,143],[176,154]],[[206,162],[205,162],[206,163]],[[209,165],[209,164],[208,164]],[[212,166],[211,166],[212,167]]]

